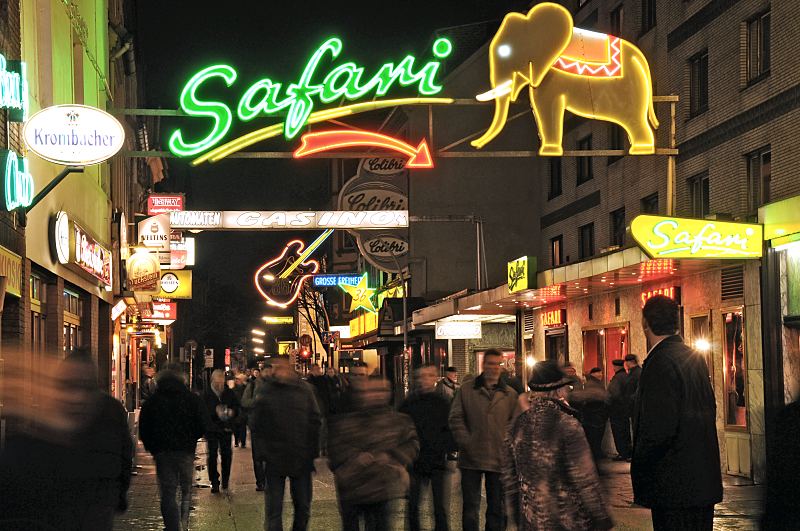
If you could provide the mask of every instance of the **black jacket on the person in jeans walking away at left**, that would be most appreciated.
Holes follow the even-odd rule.
[[[177,377],[164,377],[139,413],[139,438],[153,455],[171,451],[194,455],[209,420],[200,397]]]

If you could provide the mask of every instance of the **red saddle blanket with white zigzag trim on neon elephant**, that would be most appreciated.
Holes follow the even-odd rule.
[[[619,37],[574,28],[572,40],[553,68],[590,77],[621,77]]]

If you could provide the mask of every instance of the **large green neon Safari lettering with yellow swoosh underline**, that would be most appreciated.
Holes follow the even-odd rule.
[[[204,68],[192,76],[181,92],[181,110],[191,117],[210,120],[208,133],[200,139],[192,139],[181,129],[169,138],[169,149],[180,157],[191,157],[206,152],[193,161],[199,164],[206,160],[216,161],[256,142],[283,133],[287,139],[295,138],[310,123],[332,120],[385,107],[413,103],[451,103],[449,98],[431,98],[441,92],[437,74],[441,59],[447,58],[453,50],[451,42],[439,38],[432,46],[433,59],[415,68],[416,59],[408,55],[399,63],[385,63],[368,79],[364,68],[352,61],[342,63],[323,71],[328,58],[336,59],[342,51],[342,41],[338,38],[326,40],[311,55],[303,68],[300,78],[289,85],[275,82],[269,78],[256,81],[239,98],[236,109],[218,101],[203,99],[198,92],[207,82],[221,80],[230,87],[236,81],[236,70],[225,64]],[[315,111],[317,103],[329,104],[335,101],[355,101],[368,96],[381,98],[393,87],[416,87],[418,98],[375,100]],[[247,135],[217,146],[230,131],[236,117],[248,122],[258,117],[285,115],[285,121],[270,127],[253,131]],[[209,151],[211,150],[211,151]]]

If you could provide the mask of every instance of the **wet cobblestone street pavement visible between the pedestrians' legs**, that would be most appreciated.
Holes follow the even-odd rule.
[[[263,529],[264,495],[255,490],[250,448],[234,448],[233,470],[230,489],[221,494],[211,494],[208,476],[205,471],[205,444],[198,444],[198,460],[196,461],[196,481],[194,489],[193,511],[190,519],[192,531],[249,531]],[[115,531],[161,531],[161,513],[159,512],[158,483],[156,482],[155,465],[144,453],[141,444],[138,447],[138,475],[134,477],[129,496],[130,508],[127,513],[117,518]],[[336,492],[333,476],[325,461],[317,461],[318,473],[314,476],[314,501],[311,508],[312,531],[335,531],[341,528],[336,505]],[[601,465],[602,482],[607,493],[611,513],[620,530],[648,530],[650,512],[647,509],[633,506],[633,491],[630,484],[629,465],[627,463],[605,462]],[[714,529],[749,530],[758,529],[758,513],[762,503],[762,489],[737,481],[736,478],[725,478],[725,499],[716,506]],[[433,529],[432,515],[428,500],[423,514],[423,525]],[[405,504],[398,501],[393,507],[394,529],[404,529],[403,513]],[[284,528],[291,529],[291,498],[286,493],[286,510],[284,511]],[[453,474],[453,496],[451,503],[451,528],[461,528],[461,501],[458,489],[457,473]]]

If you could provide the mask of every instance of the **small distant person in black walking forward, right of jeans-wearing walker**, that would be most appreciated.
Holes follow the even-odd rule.
[[[231,477],[231,463],[233,462],[233,449],[231,436],[234,423],[240,412],[241,405],[236,393],[225,385],[225,372],[217,369],[211,373],[211,388],[203,395],[206,411],[211,417],[206,441],[208,442],[208,479],[211,481],[211,492],[219,492],[219,472],[217,472],[217,452],[222,458],[222,488],[228,488]],[[251,441],[252,443],[252,441]]]

